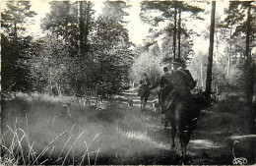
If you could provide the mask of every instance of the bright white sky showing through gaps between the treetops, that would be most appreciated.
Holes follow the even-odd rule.
[[[37,16],[33,18],[34,25],[30,25],[28,30],[30,33],[32,33],[34,36],[40,36],[42,35],[42,31],[40,29],[40,23],[41,19],[45,17],[45,14],[50,11],[49,9],[49,2],[50,0],[36,0],[32,1],[32,10],[37,13]],[[75,2],[76,0],[71,0],[72,2]],[[95,1],[95,10],[96,15],[98,15],[101,12],[102,3],[104,0],[93,0]],[[3,0],[1,7],[2,9],[5,8],[6,0]],[[132,42],[138,44],[143,44],[143,39],[148,35],[148,30],[150,28],[150,25],[147,25],[143,23],[140,20],[140,1],[138,0],[130,0],[127,1],[129,5],[131,5],[131,8],[127,10],[129,13],[129,17],[126,17],[125,19],[129,22],[127,25],[127,29],[129,30],[129,36]],[[206,9],[206,13],[202,14],[205,21],[195,21],[193,23],[190,23],[188,26],[189,28],[193,28],[195,31],[197,31],[199,34],[202,34],[203,31],[208,30],[210,25],[210,13],[211,10],[211,3],[198,3],[198,2],[192,2],[196,5]],[[223,17],[224,8],[228,7],[228,1],[217,1],[217,16]],[[2,10],[1,9],[1,10]],[[203,37],[195,37],[195,45],[194,45],[194,51],[197,53],[198,51],[207,52],[208,51],[208,40],[205,40]]]

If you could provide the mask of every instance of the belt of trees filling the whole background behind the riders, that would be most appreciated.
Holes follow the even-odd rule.
[[[1,10],[3,101],[23,93],[72,96],[88,105],[94,99],[112,102],[136,89],[145,73],[158,91],[162,68],[171,69],[172,60],[180,58],[197,81],[195,90],[217,102],[239,96],[252,110],[249,124],[255,123],[254,1],[230,1],[222,17],[215,1],[141,1],[140,19],[150,26],[143,44],[133,43],[127,29],[132,3],[104,1],[100,13],[95,1],[48,5],[39,37],[28,31],[37,15],[32,2],[6,1]],[[206,20],[203,33],[190,26]],[[194,50],[198,37],[207,40],[209,51]],[[156,98],[157,92],[152,95]],[[250,131],[255,135],[255,124]]]

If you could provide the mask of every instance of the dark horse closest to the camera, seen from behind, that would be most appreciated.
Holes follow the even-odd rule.
[[[163,101],[163,107],[167,108],[165,122],[170,122],[171,125],[171,147],[175,147],[174,138],[177,133],[183,161],[186,158],[186,146],[196,127],[200,111],[209,103],[204,92],[194,94],[189,99],[181,99],[175,94],[170,94]]]

